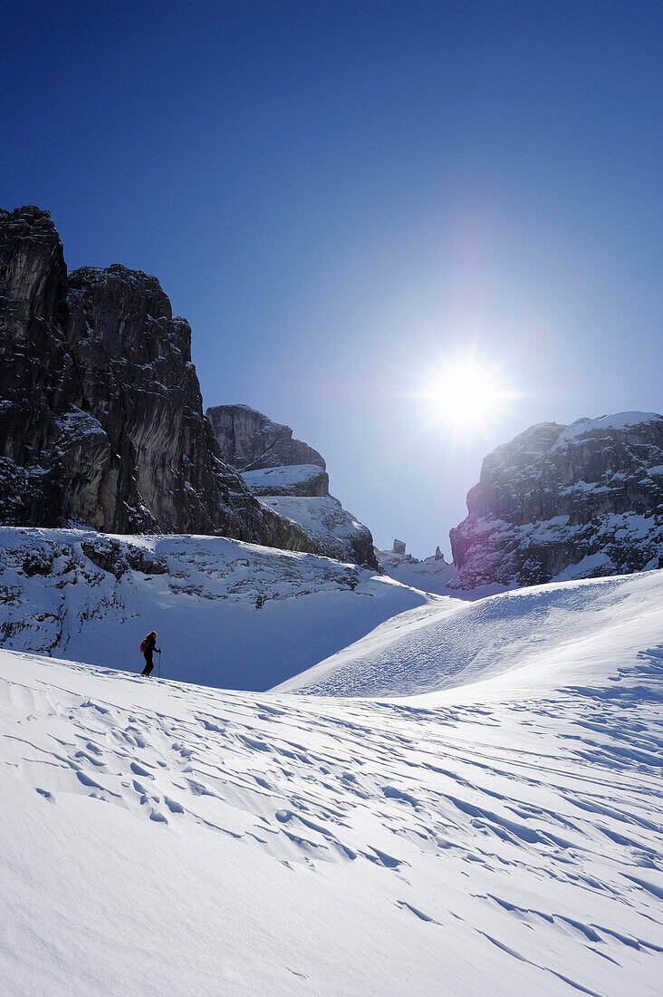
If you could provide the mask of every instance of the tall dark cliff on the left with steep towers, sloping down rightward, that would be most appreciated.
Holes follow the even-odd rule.
[[[156,277],[68,274],[48,211],[0,211],[0,521],[315,542],[220,460]]]

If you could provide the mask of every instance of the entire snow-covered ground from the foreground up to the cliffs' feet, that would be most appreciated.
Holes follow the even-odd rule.
[[[87,537],[2,531],[9,993],[663,992],[663,572],[461,602]],[[182,675],[234,639],[237,681],[286,681],[108,667],[151,625]]]

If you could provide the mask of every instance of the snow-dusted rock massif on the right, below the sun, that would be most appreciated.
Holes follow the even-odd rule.
[[[497,447],[451,530],[460,587],[663,566],[663,417],[541,423]]]

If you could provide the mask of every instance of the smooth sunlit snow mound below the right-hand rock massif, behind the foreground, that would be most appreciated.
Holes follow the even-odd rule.
[[[439,598],[276,691],[401,696],[453,688],[470,701],[494,688],[500,697],[508,686],[517,695],[574,681],[579,671],[584,683],[605,682],[662,639],[663,571],[550,582],[474,602]]]

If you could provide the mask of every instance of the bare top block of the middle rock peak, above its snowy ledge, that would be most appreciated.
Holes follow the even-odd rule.
[[[308,444],[292,439],[289,426],[273,423],[247,405],[215,405],[206,412],[219,446],[221,460],[237,471],[325,462]]]

